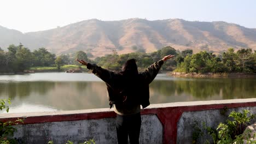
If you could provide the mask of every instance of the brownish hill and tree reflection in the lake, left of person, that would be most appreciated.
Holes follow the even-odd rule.
[[[104,82],[10,82],[0,83],[0,98],[11,98],[11,107],[36,104],[56,110],[108,107]],[[10,109],[11,112],[11,109]]]

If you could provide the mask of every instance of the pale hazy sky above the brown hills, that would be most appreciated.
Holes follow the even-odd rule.
[[[256,28],[255,0],[0,0],[0,26],[43,31],[98,19],[225,21]]]

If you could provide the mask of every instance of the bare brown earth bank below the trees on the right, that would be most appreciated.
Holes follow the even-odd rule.
[[[175,76],[175,77],[256,77],[255,73],[177,73],[177,72],[168,72],[166,75],[168,76]]]

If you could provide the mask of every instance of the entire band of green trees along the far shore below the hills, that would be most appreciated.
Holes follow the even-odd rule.
[[[193,50],[178,51],[171,46],[145,53],[141,51],[118,55],[117,51],[103,57],[96,57],[94,60],[88,58],[83,51],[56,56],[44,47],[30,51],[22,45],[9,45],[8,51],[3,51],[0,47],[0,73],[18,73],[29,70],[31,67],[57,67],[61,65],[75,64],[81,66],[75,59],[84,59],[91,63],[97,63],[103,68],[119,71],[127,59],[135,58],[139,71],[148,67],[153,62],[158,61],[166,55],[175,55],[176,58],[167,61],[162,66],[165,71],[178,71],[185,73],[256,73],[255,62],[256,52],[252,49],[228,49],[222,55],[201,51],[193,54]]]

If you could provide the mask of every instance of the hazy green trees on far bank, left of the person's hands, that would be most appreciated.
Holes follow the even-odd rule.
[[[0,73],[20,73],[24,70],[30,70],[31,67],[60,68],[64,64],[78,64],[75,63],[76,58],[88,59],[83,51],[72,55],[56,56],[44,47],[31,52],[21,43],[19,45],[9,45],[7,50],[4,51],[0,47]]]

